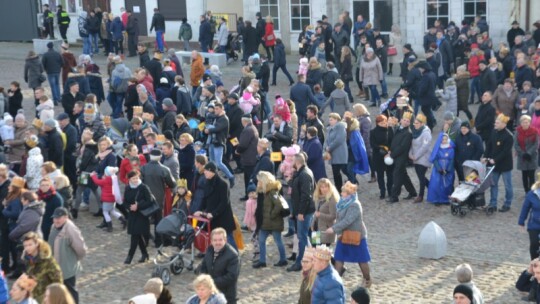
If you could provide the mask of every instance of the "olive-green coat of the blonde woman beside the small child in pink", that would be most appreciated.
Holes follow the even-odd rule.
[[[284,222],[281,211],[283,206],[279,198],[281,190],[281,182],[269,182],[266,185],[266,193],[264,193],[264,203],[262,209],[262,230],[267,231],[283,231]]]

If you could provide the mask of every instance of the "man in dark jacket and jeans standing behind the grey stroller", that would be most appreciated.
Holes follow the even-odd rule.
[[[482,161],[488,166],[495,166],[492,172],[491,180],[491,198],[489,208],[495,211],[497,209],[497,197],[499,195],[499,178],[502,176],[504,182],[504,205],[499,212],[510,210],[514,191],[512,188],[512,169],[514,159],[512,158],[513,136],[506,128],[510,118],[504,114],[499,114],[495,119],[495,130],[491,133],[491,139],[486,148],[486,153]]]

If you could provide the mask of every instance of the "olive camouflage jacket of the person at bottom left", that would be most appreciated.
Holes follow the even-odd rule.
[[[49,246],[40,246],[35,261],[31,262],[25,258],[25,264],[26,274],[34,276],[38,282],[32,296],[38,303],[43,303],[47,286],[63,282],[62,270],[52,256]]]

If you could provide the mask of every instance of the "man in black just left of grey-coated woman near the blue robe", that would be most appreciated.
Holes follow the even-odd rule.
[[[390,157],[394,159],[394,172],[393,172],[393,181],[394,185],[392,186],[392,192],[388,199],[389,203],[399,202],[399,195],[401,193],[401,186],[405,186],[405,189],[409,192],[409,196],[404,199],[413,199],[416,195],[416,189],[411,182],[411,178],[407,174],[407,163],[409,160],[409,150],[412,145],[412,133],[409,128],[411,124],[412,113],[405,112],[400,120],[400,125],[395,131],[394,137],[392,139],[392,144],[390,145]]]

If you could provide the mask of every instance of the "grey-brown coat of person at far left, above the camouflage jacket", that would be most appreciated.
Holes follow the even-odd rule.
[[[41,201],[33,201],[23,207],[17,226],[9,232],[9,239],[18,242],[27,232],[35,232],[41,235],[41,221],[45,213],[45,206]]]

